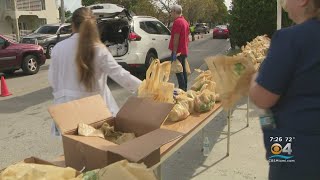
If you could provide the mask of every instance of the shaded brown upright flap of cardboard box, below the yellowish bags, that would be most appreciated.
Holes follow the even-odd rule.
[[[173,106],[147,98],[130,97],[116,116],[115,128],[136,136],[144,135],[160,128]]]

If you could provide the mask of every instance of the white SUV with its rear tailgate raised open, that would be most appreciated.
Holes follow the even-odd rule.
[[[170,57],[168,46],[171,32],[158,19],[133,16],[115,4],[89,7],[98,19],[102,42],[125,68],[145,72],[153,59],[166,60]]]

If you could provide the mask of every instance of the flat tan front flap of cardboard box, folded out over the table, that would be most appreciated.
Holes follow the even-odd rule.
[[[176,131],[157,129],[140,136],[139,138],[123,143],[120,146],[110,147],[108,151],[110,155],[116,154],[131,162],[140,162],[152,152],[159,149],[162,145],[169,143],[182,135],[182,133]],[[156,156],[156,158],[160,158],[160,151],[158,152],[159,156]],[[110,157],[110,155],[108,156]],[[160,159],[157,159],[157,162],[159,161]]]

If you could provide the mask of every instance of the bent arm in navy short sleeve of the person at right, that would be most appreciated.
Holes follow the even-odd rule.
[[[286,93],[294,75],[297,50],[288,31],[278,31],[272,38],[267,58],[253,76],[249,96],[262,109],[273,107]]]

